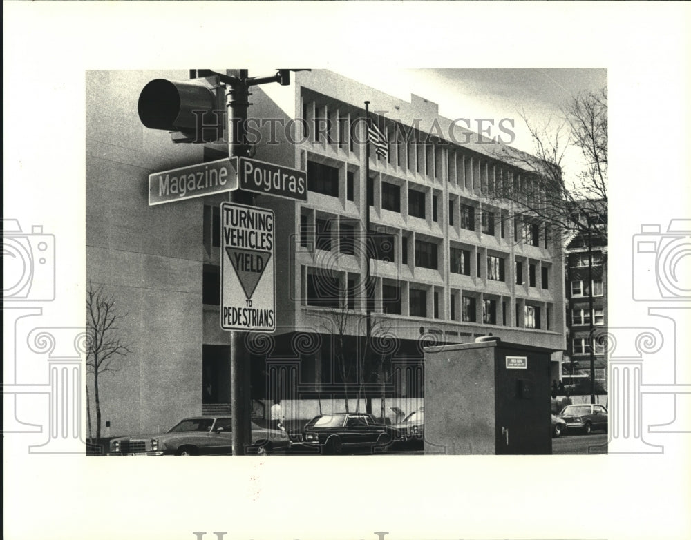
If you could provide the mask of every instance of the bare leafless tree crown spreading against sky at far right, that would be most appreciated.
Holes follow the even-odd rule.
[[[576,95],[558,126],[521,116],[533,139],[533,155],[500,146],[496,154],[515,171],[496,180],[489,198],[511,203],[514,217],[538,218],[559,231],[606,240],[607,89]],[[568,148],[585,160],[585,169],[569,184],[562,173]]]

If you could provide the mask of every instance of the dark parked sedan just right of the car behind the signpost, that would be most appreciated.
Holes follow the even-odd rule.
[[[378,423],[367,413],[320,414],[305,424],[303,445],[319,447],[325,454],[343,451],[386,449],[400,438],[391,425]]]

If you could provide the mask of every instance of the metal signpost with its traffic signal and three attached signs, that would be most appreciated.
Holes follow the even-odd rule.
[[[290,84],[290,71],[277,70],[268,77],[249,77],[247,70],[224,75],[211,70],[191,70],[191,81],[155,79],[144,86],[138,112],[147,128],[171,131],[176,143],[210,143],[223,138],[218,108],[227,110],[228,156],[149,175],[149,205],[164,204],[240,190],[248,202],[254,193],[307,200],[307,173],[247,157],[247,108],[249,88],[260,84]],[[238,177],[242,171],[242,186]],[[243,202],[245,200],[243,199]],[[224,202],[221,204],[221,311],[220,326],[231,332],[231,409],[233,454],[245,453],[251,443],[249,409],[249,355],[242,332],[272,332],[274,308],[274,212]]]

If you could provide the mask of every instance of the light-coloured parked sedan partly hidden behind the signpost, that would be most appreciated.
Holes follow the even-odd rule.
[[[184,418],[164,434],[119,437],[111,441],[111,456],[196,456],[232,454],[232,418],[199,416]],[[290,438],[281,430],[260,427],[252,422],[252,446],[248,451],[266,454],[288,448]]]

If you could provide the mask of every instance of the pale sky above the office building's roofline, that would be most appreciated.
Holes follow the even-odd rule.
[[[533,140],[520,116],[540,126],[562,124],[565,108],[581,91],[607,86],[607,70],[592,69],[332,69],[362,84],[410,101],[410,95],[439,105],[439,114],[449,119],[467,118],[471,129],[480,118],[513,119],[515,140],[511,146],[532,153]],[[263,72],[262,72],[263,73]],[[291,113],[291,87],[264,85],[263,90]],[[462,124],[465,125],[465,124]],[[510,124],[508,124],[510,125]],[[562,162],[565,178],[574,180],[583,170],[576,148],[569,148]]]

